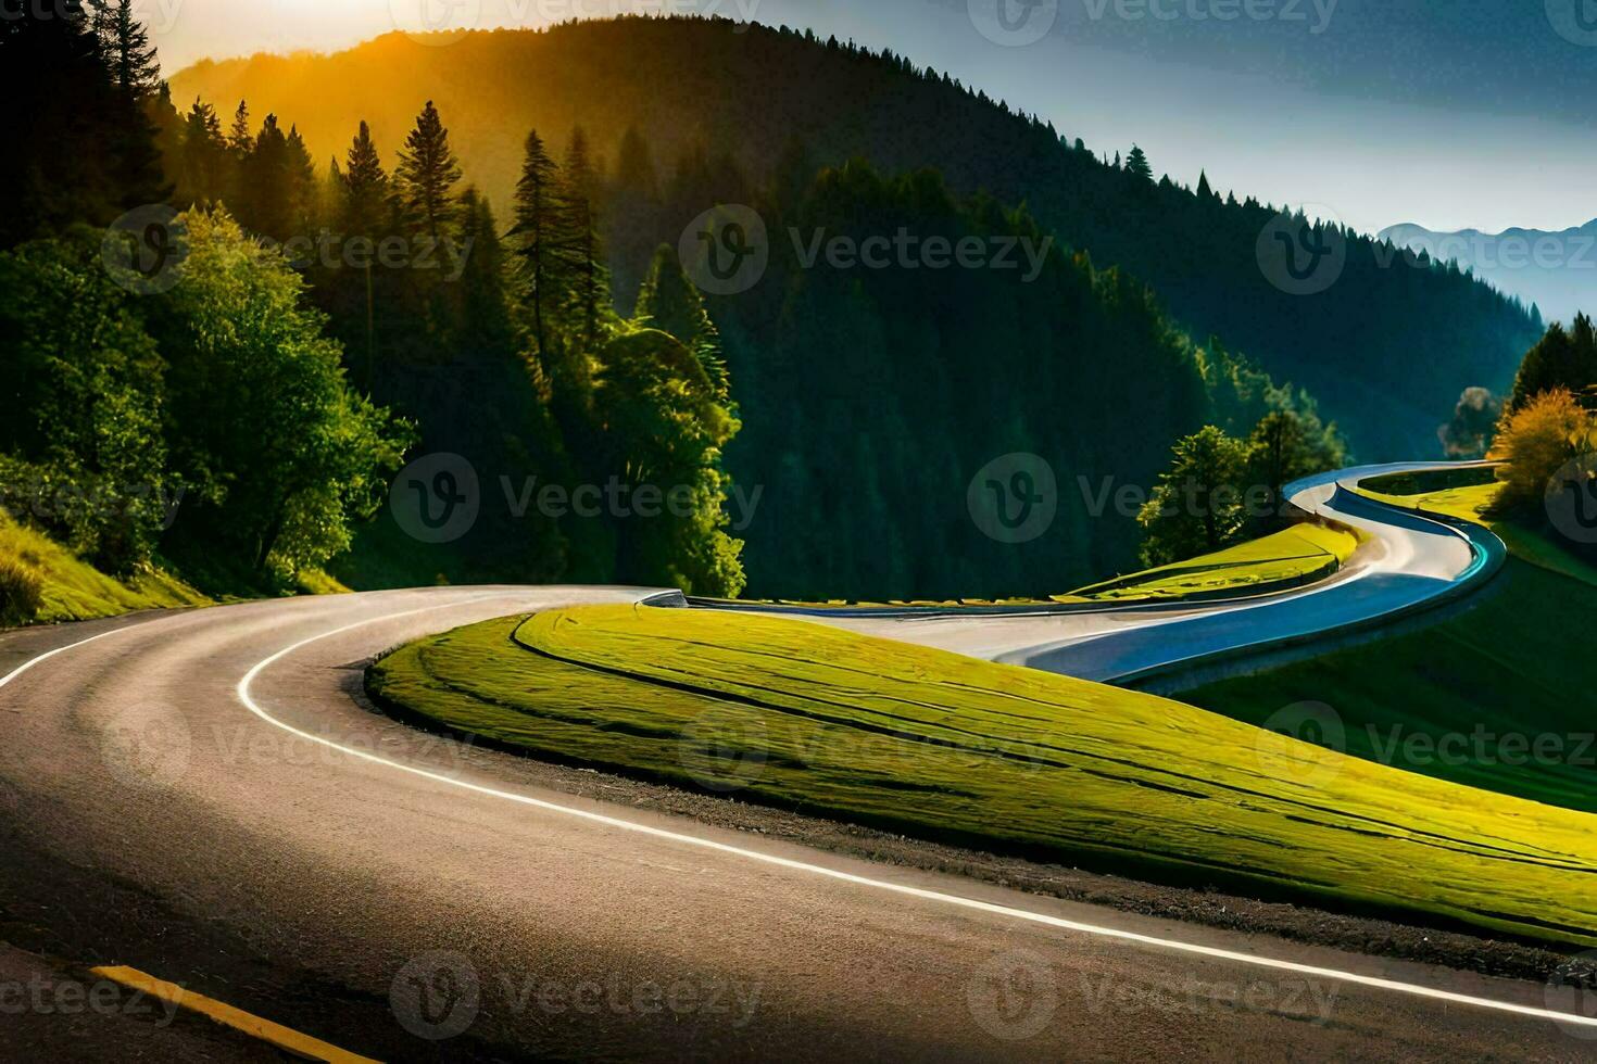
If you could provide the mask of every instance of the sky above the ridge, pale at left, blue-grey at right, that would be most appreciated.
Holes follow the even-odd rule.
[[[714,13],[890,46],[1158,172],[1364,231],[1597,217],[1597,0],[137,0],[168,72],[394,29]],[[934,131],[928,131],[934,136]]]

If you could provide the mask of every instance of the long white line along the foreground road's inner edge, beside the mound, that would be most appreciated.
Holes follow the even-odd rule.
[[[1380,991],[1393,991],[1393,992],[1397,992],[1397,994],[1409,994],[1409,995],[1413,995],[1413,997],[1425,997],[1425,999],[1439,1000],[1439,1002],[1452,1002],[1452,1003],[1456,1003],[1456,1005],[1471,1005],[1471,1007],[1476,1007],[1476,1008],[1488,1008],[1488,1010],[1503,1011],[1503,1013],[1516,1013],[1519,1016],[1533,1016],[1536,1019],[1552,1019],[1555,1023],[1563,1023],[1563,1024],[1576,1024],[1576,1026],[1586,1026],[1586,1027],[1597,1027],[1597,1016],[1579,1016],[1576,1013],[1563,1013],[1563,1011],[1557,1011],[1557,1010],[1552,1010],[1552,1008],[1535,1008],[1535,1007],[1530,1007],[1530,1005],[1517,1005],[1514,1002],[1500,1002],[1500,1000],[1493,1000],[1490,997],[1474,997],[1471,994],[1455,994],[1453,991],[1440,991],[1440,989],[1436,989],[1436,987],[1418,986],[1415,983],[1402,983],[1402,981],[1397,981],[1397,979],[1383,979],[1383,978],[1372,976],[1372,975],[1361,975],[1357,971],[1341,971],[1341,970],[1337,970],[1337,968],[1321,968],[1321,967],[1316,967],[1316,965],[1297,964],[1294,960],[1278,960],[1274,957],[1258,957],[1258,956],[1254,956],[1254,954],[1236,952],[1236,951],[1231,951],[1231,949],[1219,949],[1215,946],[1199,946],[1199,944],[1195,944],[1195,943],[1183,943],[1183,941],[1177,941],[1177,940],[1172,940],[1172,938],[1158,938],[1155,935],[1140,935],[1137,932],[1124,932],[1124,930],[1113,928],[1113,927],[1100,927],[1100,925],[1096,925],[1096,924],[1083,924],[1080,920],[1067,920],[1064,917],[1048,916],[1044,912],[1032,912],[1028,909],[1016,909],[1012,906],[997,904],[997,903],[992,903],[992,901],[977,901],[974,898],[961,898],[958,895],[942,893],[939,890],[926,890],[923,887],[909,887],[909,885],[904,885],[904,884],[886,882],[886,881],[882,881],[882,879],[870,879],[869,876],[856,876],[854,873],[845,873],[845,871],[838,871],[835,868],[824,868],[821,865],[810,865],[806,861],[798,861],[798,860],[792,860],[792,858],[787,858],[787,857],[776,857],[773,853],[760,853],[759,850],[746,850],[743,847],[730,845],[727,842],[715,842],[714,839],[701,839],[698,836],[684,834],[680,831],[668,831],[666,828],[653,828],[653,826],[648,826],[648,825],[632,823],[631,820],[621,820],[618,817],[607,817],[604,814],[596,814],[596,812],[591,812],[591,810],[586,810],[586,809],[573,809],[572,806],[561,806],[559,802],[549,802],[549,801],[545,801],[541,798],[532,798],[529,794],[516,794],[514,791],[501,791],[501,790],[497,790],[497,788],[492,788],[492,786],[484,786],[481,783],[468,783],[465,780],[457,780],[457,778],[442,775],[439,772],[430,772],[428,769],[418,769],[415,766],[401,764],[398,761],[390,761],[388,758],[380,758],[380,756],[377,756],[374,753],[369,753],[366,750],[353,750],[350,747],[342,747],[342,745],[332,742],[331,739],[326,739],[326,737],[321,737],[321,735],[313,735],[310,732],[300,731],[299,727],[294,727],[292,724],[284,724],[283,721],[276,719],[275,716],[271,716],[270,713],[267,713],[264,708],[260,708],[260,703],[257,703],[256,699],[249,694],[251,684],[254,683],[256,676],[259,676],[264,670],[267,670],[268,667],[271,667],[275,662],[287,657],[294,651],[299,651],[300,648],[310,646],[311,643],[316,643],[319,640],[329,640],[329,638],[332,638],[335,635],[343,635],[345,632],[350,632],[353,629],[361,629],[361,627],[366,627],[366,625],[371,625],[371,624],[377,624],[378,621],[391,621],[394,617],[406,617],[406,616],[412,616],[412,614],[418,614],[418,613],[428,613],[428,611],[433,611],[433,609],[450,609],[450,608],[455,608],[455,606],[465,606],[465,605],[470,605],[470,603],[484,601],[487,598],[509,598],[509,597],[511,595],[484,595],[482,598],[471,598],[471,600],[460,601],[460,603],[450,603],[449,606],[423,606],[420,609],[409,609],[406,613],[388,614],[385,617],[372,617],[371,621],[358,621],[355,624],[347,624],[347,625],[343,625],[340,629],[334,629],[332,632],[324,632],[321,635],[313,635],[308,640],[300,640],[299,643],[294,643],[292,646],[286,646],[281,651],[278,651],[276,654],[273,654],[273,656],[260,660],[259,664],[256,664],[254,668],[251,668],[248,673],[244,673],[244,678],[238,681],[238,700],[244,703],[244,708],[248,708],[251,713],[254,713],[260,719],[267,721],[268,724],[273,724],[275,727],[281,727],[283,731],[286,731],[286,732],[289,732],[292,735],[297,735],[300,739],[321,743],[321,745],[329,747],[332,750],[337,750],[340,753],[347,753],[351,758],[359,758],[363,761],[371,761],[374,764],[382,764],[382,766],[386,766],[390,769],[398,769],[401,772],[409,772],[410,775],[417,775],[417,777],[422,777],[425,780],[431,780],[434,783],[444,783],[447,786],[457,786],[457,788],[465,790],[465,791],[473,791],[476,794],[485,794],[489,798],[500,798],[500,799],[505,799],[505,801],[517,802],[521,806],[532,806],[533,809],[541,809],[545,812],[561,814],[561,815],[565,815],[565,817],[575,817],[578,820],[586,820],[589,823],[599,823],[599,825],[604,825],[607,828],[620,828],[621,831],[632,831],[632,833],[637,833],[637,834],[647,834],[647,836],[655,837],[655,839],[668,839],[671,842],[680,842],[684,845],[693,845],[693,847],[699,847],[699,849],[704,849],[704,850],[714,850],[717,853],[727,853],[727,855],[731,855],[731,857],[741,857],[744,860],[759,861],[762,865],[773,865],[776,868],[786,868],[789,871],[798,871],[798,873],[806,873],[806,874],[811,874],[811,876],[821,876],[821,877],[826,877],[826,879],[835,879],[835,881],[840,881],[840,882],[853,884],[856,887],[869,887],[872,890],[883,890],[883,892],[896,893],[896,895],[902,895],[902,897],[920,898],[921,901],[936,901],[936,903],[941,903],[941,904],[949,904],[949,906],[955,906],[955,908],[961,908],[961,909],[974,909],[977,912],[989,912],[989,914],[995,914],[995,916],[1011,917],[1011,919],[1016,919],[1016,920],[1027,920],[1030,924],[1043,924],[1046,927],[1057,927],[1057,928],[1067,930],[1067,932],[1078,932],[1078,933],[1083,933],[1083,935],[1094,935],[1094,936],[1099,936],[1099,938],[1113,938],[1113,940],[1119,940],[1119,941],[1137,943],[1140,946],[1153,946],[1153,948],[1158,948],[1158,949],[1167,949],[1167,951],[1174,951],[1174,952],[1195,954],[1195,956],[1199,956],[1199,957],[1212,957],[1212,959],[1217,959],[1217,960],[1231,960],[1231,962],[1236,962],[1236,964],[1254,965],[1254,967],[1258,967],[1258,968],[1273,968],[1276,971],[1292,971],[1295,975],[1319,976],[1319,978],[1326,978],[1326,979],[1337,979],[1337,981],[1341,981],[1341,983],[1356,983],[1359,986],[1369,986],[1369,987],[1375,987],[1375,989],[1380,989]]]

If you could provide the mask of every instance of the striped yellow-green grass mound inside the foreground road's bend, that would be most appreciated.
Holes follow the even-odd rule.
[[[1597,943],[1597,817],[781,617],[600,606],[409,644],[409,715],[923,837]]]

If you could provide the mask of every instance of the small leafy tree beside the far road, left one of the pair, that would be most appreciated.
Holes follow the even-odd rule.
[[[1137,515],[1143,562],[1169,565],[1231,542],[1246,517],[1246,464],[1247,445],[1212,424],[1177,440],[1171,467]]]

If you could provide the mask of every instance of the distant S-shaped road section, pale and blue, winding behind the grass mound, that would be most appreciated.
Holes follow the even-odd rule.
[[[1359,466],[1287,485],[1286,496],[1300,509],[1369,538],[1340,573],[1305,587],[1190,605],[1067,606],[1001,616],[811,611],[805,619],[1083,680],[1134,683],[1198,662],[1383,624],[1479,585],[1506,555],[1495,534],[1401,510],[1353,488],[1381,474],[1480,464]]]

